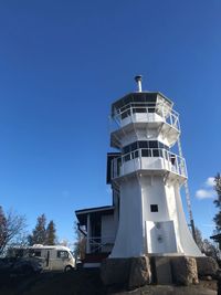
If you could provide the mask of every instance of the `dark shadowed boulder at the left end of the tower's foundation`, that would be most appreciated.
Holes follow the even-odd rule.
[[[101,278],[104,285],[128,284],[131,259],[106,259],[101,265]]]

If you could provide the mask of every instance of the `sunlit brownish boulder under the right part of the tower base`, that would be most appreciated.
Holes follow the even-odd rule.
[[[197,262],[193,257],[176,256],[171,259],[172,278],[176,284],[198,284]]]

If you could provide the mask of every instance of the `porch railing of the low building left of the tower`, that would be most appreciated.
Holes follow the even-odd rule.
[[[113,236],[91,236],[87,238],[90,253],[109,252],[114,246]]]

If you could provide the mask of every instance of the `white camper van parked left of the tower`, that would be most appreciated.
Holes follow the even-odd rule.
[[[42,271],[65,271],[75,268],[75,259],[71,250],[62,245],[40,245],[12,247],[11,257],[35,257],[41,262]]]

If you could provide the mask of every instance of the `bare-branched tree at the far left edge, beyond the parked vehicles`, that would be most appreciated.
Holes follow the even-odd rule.
[[[25,229],[25,218],[12,210],[7,214],[0,206],[0,255],[12,245],[20,243]]]

